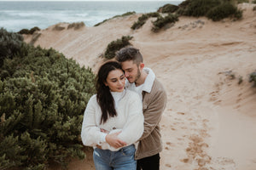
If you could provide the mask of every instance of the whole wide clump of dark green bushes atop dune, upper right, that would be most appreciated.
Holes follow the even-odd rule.
[[[177,9],[177,14],[186,16],[207,16],[214,21],[233,16],[240,19],[241,10],[230,0],[186,0]]]

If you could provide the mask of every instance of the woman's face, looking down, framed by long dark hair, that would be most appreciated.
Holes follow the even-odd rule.
[[[105,85],[112,92],[123,92],[125,89],[125,75],[121,70],[113,70],[108,73]]]

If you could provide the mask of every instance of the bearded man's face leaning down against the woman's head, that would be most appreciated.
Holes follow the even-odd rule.
[[[130,83],[136,82],[141,77],[140,65],[133,63],[132,60],[127,60],[121,63],[122,69],[125,71],[125,77]]]

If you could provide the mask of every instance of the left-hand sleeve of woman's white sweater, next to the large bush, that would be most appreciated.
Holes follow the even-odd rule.
[[[96,144],[104,142],[103,135],[106,134],[102,133],[100,127],[96,126],[96,95],[94,95],[90,98],[84,111],[81,139],[84,145],[96,146]]]

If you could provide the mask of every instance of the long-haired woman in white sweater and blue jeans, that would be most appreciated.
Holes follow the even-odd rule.
[[[142,101],[137,93],[125,90],[121,65],[116,61],[103,64],[96,77],[96,95],[84,111],[81,132],[83,144],[94,147],[96,170],[136,169],[134,154],[143,121]]]

